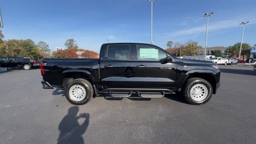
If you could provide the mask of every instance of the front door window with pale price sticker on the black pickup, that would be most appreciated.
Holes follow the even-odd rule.
[[[138,60],[165,60],[166,53],[151,46],[137,46]]]

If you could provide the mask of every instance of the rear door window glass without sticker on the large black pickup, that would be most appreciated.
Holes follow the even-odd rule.
[[[108,58],[130,60],[130,45],[108,46]]]

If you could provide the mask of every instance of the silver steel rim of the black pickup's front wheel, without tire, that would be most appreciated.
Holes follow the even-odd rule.
[[[208,95],[208,89],[204,84],[196,84],[190,89],[190,96],[195,101],[202,101]]]

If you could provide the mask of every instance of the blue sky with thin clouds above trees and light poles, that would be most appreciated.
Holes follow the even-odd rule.
[[[80,48],[100,51],[103,43],[150,43],[151,3],[147,0],[0,0],[4,40],[32,39],[63,47],[73,38]],[[188,40],[208,47],[256,44],[256,0],[156,0],[153,2],[153,42]]]

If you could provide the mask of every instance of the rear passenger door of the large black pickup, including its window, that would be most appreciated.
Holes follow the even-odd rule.
[[[100,60],[100,74],[104,87],[132,87],[134,65],[131,46],[106,46]]]

